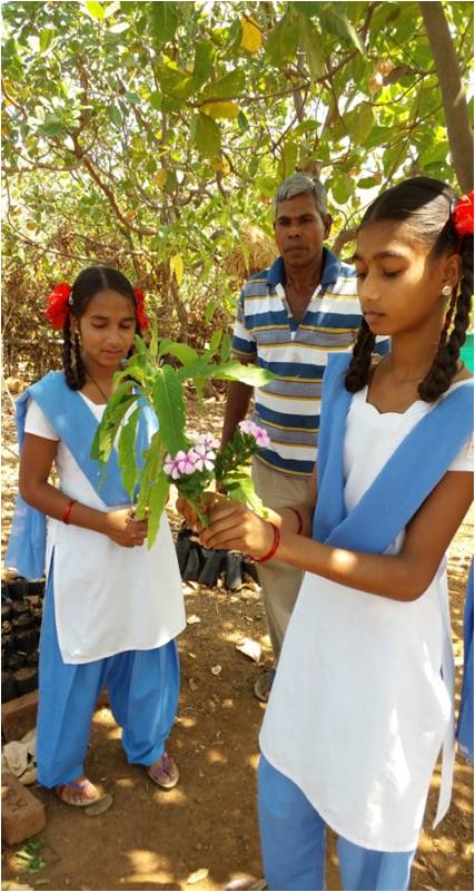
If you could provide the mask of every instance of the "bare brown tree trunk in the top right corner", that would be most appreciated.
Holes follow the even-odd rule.
[[[419,2],[441,86],[452,160],[462,192],[473,188],[474,138],[461,69],[441,2]]]

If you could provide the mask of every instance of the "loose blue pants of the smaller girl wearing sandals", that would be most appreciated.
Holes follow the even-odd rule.
[[[176,641],[154,650],[127,650],[92,663],[63,663],[58,645],[52,568],[44,598],[37,721],[38,781],[47,787],[83,774],[97,699],[108,688],[112,715],[123,728],[130,763],[154,765],[177,712],[179,664]]]

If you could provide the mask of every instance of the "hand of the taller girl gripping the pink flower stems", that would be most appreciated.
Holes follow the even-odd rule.
[[[274,542],[270,523],[232,499],[221,501],[208,510],[209,527],[200,532],[206,548],[244,551],[255,558],[267,555]]]

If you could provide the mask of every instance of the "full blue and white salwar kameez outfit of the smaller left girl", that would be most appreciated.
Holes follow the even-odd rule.
[[[50,373],[20,398],[24,433],[58,440],[60,489],[99,511],[130,504],[113,451],[103,478],[90,447],[103,405]],[[137,449],[154,419],[141,419]],[[121,548],[107,536],[48,520],[19,498],[8,566],[29,578],[47,572],[40,638],[38,776],[44,786],[83,774],[90,723],[106,687],[130,763],[152,765],[175,719],[179,665],[175,638],[185,627],[181,579],[168,521],[152,549]]]

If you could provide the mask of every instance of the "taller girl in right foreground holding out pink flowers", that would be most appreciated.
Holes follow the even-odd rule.
[[[315,512],[222,500],[200,531],[306,570],[260,734],[269,889],[324,889],[328,825],[344,889],[405,890],[441,749],[436,823],[451,800],[445,552],[473,489],[473,196],[426,177],[388,189],[355,265],[364,323],[325,373]],[[392,339],[379,361],[375,335]]]

